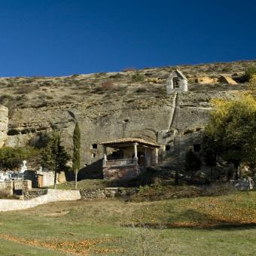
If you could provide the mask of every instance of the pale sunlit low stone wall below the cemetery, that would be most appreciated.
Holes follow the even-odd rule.
[[[79,190],[55,190],[48,189],[47,194],[31,200],[0,200],[0,212],[29,209],[45,203],[57,201],[79,200],[81,195]]]

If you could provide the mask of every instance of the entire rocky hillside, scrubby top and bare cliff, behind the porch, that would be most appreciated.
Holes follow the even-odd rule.
[[[181,163],[186,148],[200,144],[209,100],[247,90],[242,74],[252,65],[256,61],[179,66],[188,78],[189,91],[178,95],[166,94],[166,79],[175,66],[66,77],[0,78],[0,105],[9,111],[0,109],[1,145],[24,145],[38,139],[41,132],[61,130],[63,143],[70,150],[78,120],[82,164],[87,168],[101,164],[100,142],[128,136],[163,145],[163,164],[174,158]]]

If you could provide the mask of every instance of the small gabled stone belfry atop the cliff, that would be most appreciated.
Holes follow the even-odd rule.
[[[167,94],[172,93],[173,90],[187,92],[187,78],[178,69],[172,72],[166,81]]]

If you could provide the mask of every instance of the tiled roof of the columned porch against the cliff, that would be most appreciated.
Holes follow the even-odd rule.
[[[105,145],[111,148],[118,148],[118,147],[126,147],[130,144],[138,143],[139,145],[148,146],[151,148],[160,148],[160,145],[157,145],[153,142],[148,142],[145,139],[139,138],[123,138],[123,139],[115,139],[109,142],[102,142],[101,145]]]

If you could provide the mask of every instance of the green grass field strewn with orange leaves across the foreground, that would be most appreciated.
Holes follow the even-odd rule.
[[[254,255],[256,192],[0,213],[1,255]]]

